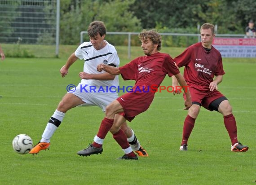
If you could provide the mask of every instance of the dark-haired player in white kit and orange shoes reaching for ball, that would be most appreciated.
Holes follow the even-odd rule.
[[[104,40],[106,36],[104,22],[91,22],[88,26],[88,36],[90,42],[79,45],[75,53],[71,54],[60,70],[62,77],[64,77],[68,74],[70,66],[78,58],[80,60],[84,59],[84,71],[79,73],[81,82],[76,88],[66,93],[62,101],[59,102],[57,109],[44,129],[40,142],[29,152],[30,154],[38,154],[40,150],[49,149],[50,139],[61,124],[66,111],[76,106],[99,106],[105,111],[106,106],[118,97],[115,89],[109,89],[111,86],[117,87],[119,85],[118,76],[97,71],[97,65],[101,63],[109,66],[119,66],[119,57],[115,47]],[[126,123],[123,124],[122,130],[124,130],[132,150],[136,151],[139,156],[148,156],[146,150],[141,147],[134,132]],[[101,154],[102,151],[97,151],[97,154]]]

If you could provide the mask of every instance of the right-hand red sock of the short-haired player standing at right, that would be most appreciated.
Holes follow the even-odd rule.
[[[238,142],[236,121],[233,114],[226,115],[224,118],[225,128],[227,129],[232,145]]]

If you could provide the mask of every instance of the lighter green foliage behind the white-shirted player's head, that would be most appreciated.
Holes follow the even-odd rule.
[[[101,20],[105,22],[108,31],[140,31],[141,23],[132,11],[130,5],[135,0],[75,0],[62,9],[61,43],[78,44],[80,31],[86,31],[90,22]],[[117,42],[118,40],[116,40]]]

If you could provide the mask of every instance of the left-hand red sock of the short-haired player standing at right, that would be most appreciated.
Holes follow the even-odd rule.
[[[195,122],[195,119],[190,117],[190,115],[187,115],[184,121],[181,145],[188,144],[188,139],[194,128],[194,122]]]

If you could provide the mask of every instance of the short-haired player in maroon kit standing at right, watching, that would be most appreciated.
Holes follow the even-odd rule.
[[[184,78],[190,87],[192,99],[192,106],[184,121],[180,150],[187,150],[188,139],[194,128],[195,119],[199,115],[200,107],[203,106],[207,110],[216,110],[223,115],[225,128],[232,144],[231,151],[245,152],[248,150],[248,146],[242,145],[237,139],[236,121],[230,102],[217,88],[217,84],[221,83],[222,75],[225,72],[221,53],[212,46],[212,40],[215,37],[214,26],[205,23],[201,26],[200,32],[202,42],[191,45],[174,58],[178,67],[185,66]],[[173,77],[172,86],[177,85],[177,79]],[[179,93],[177,92],[177,94]]]

